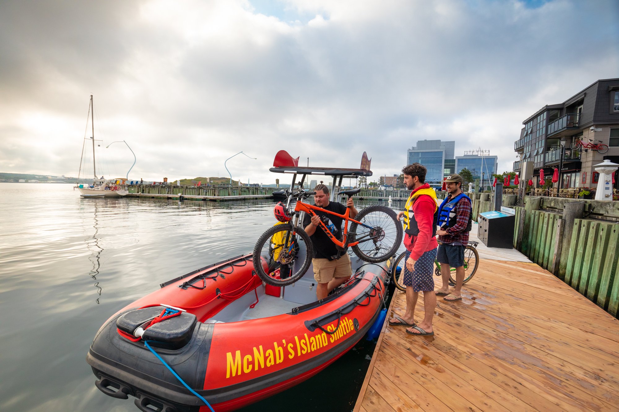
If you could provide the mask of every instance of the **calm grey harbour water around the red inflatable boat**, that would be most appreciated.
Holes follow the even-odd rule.
[[[100,325],[159,283],[253,250],[271,200],[82,199],[69,184],[0,184],[0,410],[137,411],[95,388]],[[349,411],[374,343],[243,411]]]

